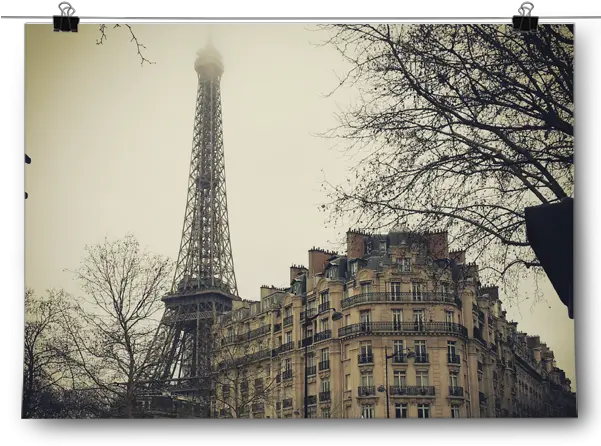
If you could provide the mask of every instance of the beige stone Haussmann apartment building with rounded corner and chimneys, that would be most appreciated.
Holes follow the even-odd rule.
[[[446,232],[349,231],[308,260],[219,317],[213,416],[303,418],[305,396],[308,418],[576,416],[553,352]]]

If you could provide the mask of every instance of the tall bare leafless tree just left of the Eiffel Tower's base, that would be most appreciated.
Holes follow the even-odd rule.
[[[133,418],[140,381],[155,365],[148,351],[172,262],[141,250],[132,235],[86,251],[73,271],[84,297],[73,301],[77,323],[66,326],[69,359],[123,417]]]

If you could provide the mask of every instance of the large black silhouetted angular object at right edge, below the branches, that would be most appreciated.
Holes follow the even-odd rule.
[[[526,236],[574,319],[574,199],[525,209]]]

